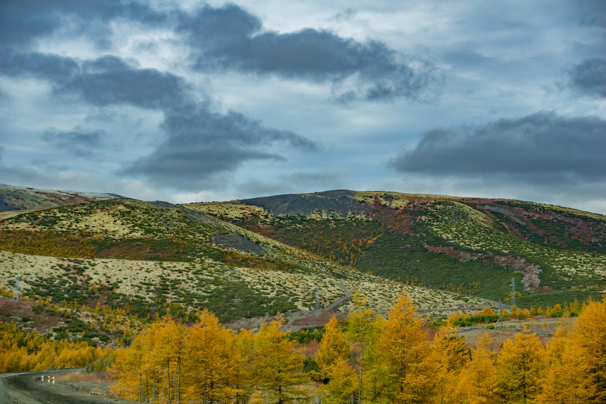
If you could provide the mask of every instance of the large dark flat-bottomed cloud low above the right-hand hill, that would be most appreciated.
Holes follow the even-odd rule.
[[[606,174],[606,121],[539,112],[500,119],[475,130],[437,128],[391,165],[406,173],[531,174],[595,180]]]

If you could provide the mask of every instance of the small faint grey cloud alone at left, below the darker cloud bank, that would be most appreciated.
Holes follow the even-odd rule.
[[[42,133],[42,140],[56,148],[66,150],[76,157],[90,156],[101,145],[105,132],[102,130],[83,131],[76,127],[71,131],[50,129]]]

